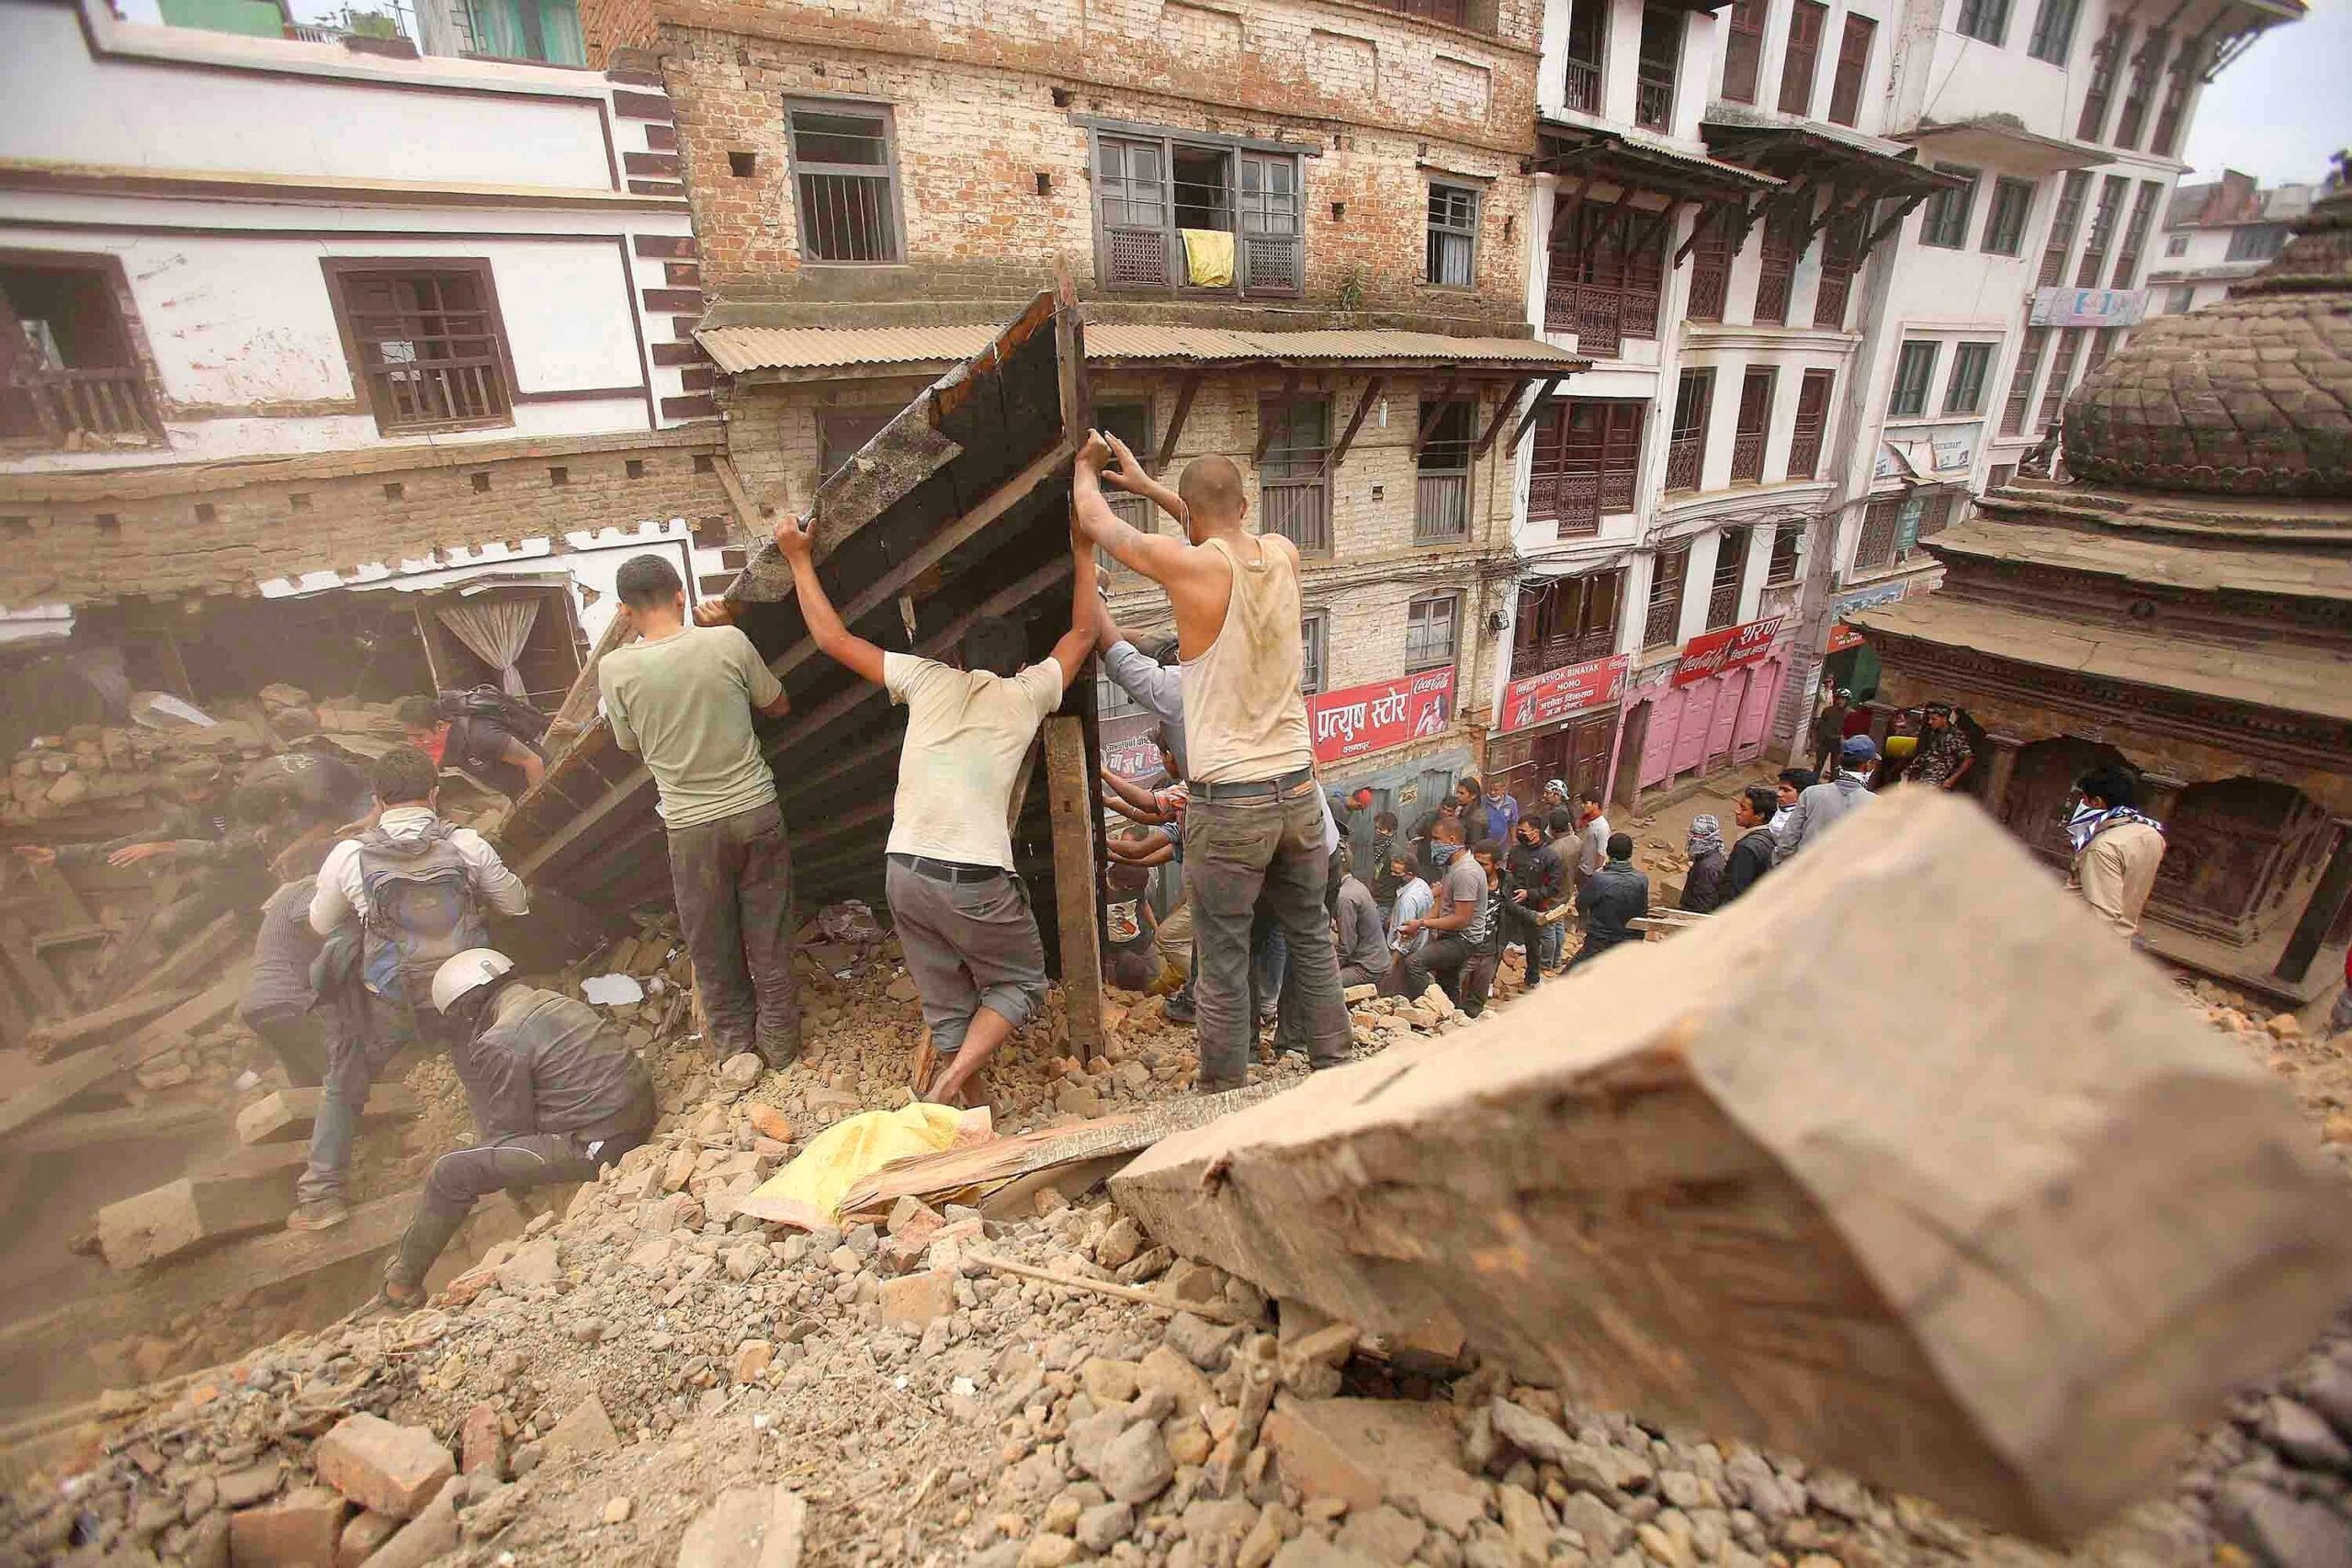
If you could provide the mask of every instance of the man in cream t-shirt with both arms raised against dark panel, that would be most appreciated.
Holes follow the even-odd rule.
[[[1028,632],[983,616],[964,632],[962,670],[884,654],[842,625],[800,520],[776,522],[776,550],[793,564],[809,639],[906,703],[882,886],[941,1058],[915,1093],[938,1105],[983,1103],[981,1065],[1044,1001],[1044,945],[1014,870],[1007,809],[1037,726],[1094,654],[1094,545],[1073,531],[1070,630],[1049,658],[1023,663]]]

